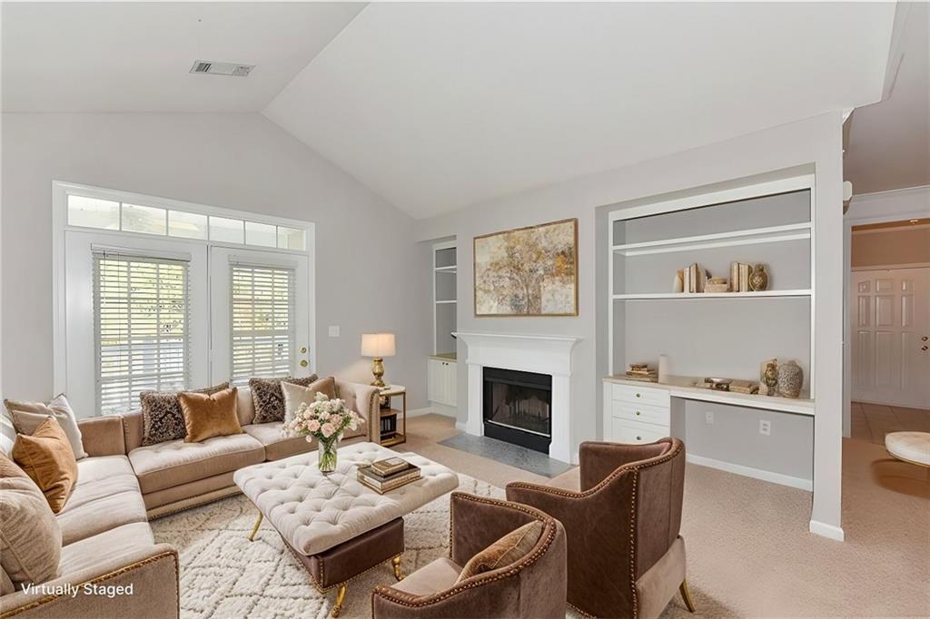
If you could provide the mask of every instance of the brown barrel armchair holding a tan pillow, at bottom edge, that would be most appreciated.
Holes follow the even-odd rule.
[[[533,507],[472,494],[450,499],[449,557],[372,593],[374,619],[533,617],[565,619],[565,529]],[[462,566],[527,522],[543,523],[528,554],[456,584]]]

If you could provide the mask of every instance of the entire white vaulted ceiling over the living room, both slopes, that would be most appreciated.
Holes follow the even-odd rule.
[[[414,217],[868,105],[895,5],[3,7],[12,112],[261,112]],[[256,64],[192,75],[194,59]]]

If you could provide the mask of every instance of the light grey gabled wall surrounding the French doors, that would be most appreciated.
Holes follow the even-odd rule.
[[[412,219],[259,114],[4,114],[4,396],[52,391],[51,181],[316,223],[315,365],[369,382],[363,332],[397,334],[388,377],[426,404],[429,298]],[[327,336],[339,325],[339,338]],[[311,351],[311,354],[313,351]]]

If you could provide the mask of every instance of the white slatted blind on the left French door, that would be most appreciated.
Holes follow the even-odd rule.
[[[97,407],[139,407],[139,393],[179,390],[190,377],[189,259],[94,249]]]

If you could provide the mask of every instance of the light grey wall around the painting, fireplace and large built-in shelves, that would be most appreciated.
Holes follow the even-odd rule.
[[[618,146],[622,148],[622,145]],[[618,203],[648,201],[676,191],[804,166],[817,175],[815,223],[815,315],[817,423],[812,524],[841,536],[842,454],[842,117],[830,112],[790,125],[734,138],[692,151],[611,170],[550,187],[478,204],[419,223],[419,239],[458,237],[458,329],[460,331],[557,334],[581,337],[574,360],[572,442],[601,436],[600,379],[606,374],[604,246],[607,210]],[[697,191],[696,191],[697,192]],[[635,204],[635,203],[632,203]],[[472,238],[479,234],[578,217],[579,316],[577,318],[476,318],[473,314]],[[595,230],[596,228],[596,230]],[[595,246],[596,245],[596,246]],[[466,349],[459,344],[460,359]],[[458,411],[467,410],[465,364],[458,368]],[[804,450],[804,445],[799,445]],[[810,457],[809,454],[807,457]],[[747,466],[752,466],[749,464]]]

